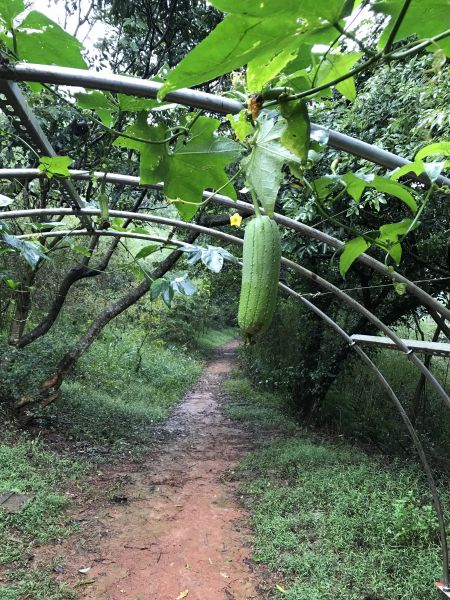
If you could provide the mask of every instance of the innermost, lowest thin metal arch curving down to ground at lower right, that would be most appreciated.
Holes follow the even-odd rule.
[[[235,238],[232,241],[232,243],[242,244],[242,240],[240,238],[236,238],[235,236],[229,236],[228,234],[224,234],[222,232],[217,232],[216,230],[210,229],[210,228],[202,228],[202,229],[209,229],[208,235],[212,235],[214,237],[221,237],[221,238],[227,239],[228,241],[232,241],[229,238]],[[154,242],[160,242],[160,243],[170,243],[170,244],[178,246],[178,247],[182,247],[185,245],[185,242],[177,240],[177,239],[168,240],[167,238],[163,238],[163,237],[159,237],[159,236],[139,234],[139,233],[134,233],[134,232],[130,232],[130,231],[120,232],[120,231],[110,231],[110,230],[96,230],[94,233],[95,233],[95,235],[104,236],[104,237],[119,237],[119,238],[127,237],[127,238],[154,241]],[[218,233],[220,233],[221,235],[218,236],[217,235]],[[77,230],[44,232],[44,233],[40,234],[40,237],[65,238],[67,236],[79,236],[79,235],[91,235],[91,233],[89,231],[77,231]],[[25,234],[25,235],[20,235],[17,237],[19,239],[26,239],[31,236]],[[241,263],[239,263],[239,264],[241,265]],[[419,459],[422,463],[422,467],[425,471],[428,485],[431,490],[433,504],[434,504],[434,508],[435,508],[437,518],[438,518],[439,539],[440,539],[441,554],[442,554],[443,579],[444,579],[445,586],[447,586],[448,582],[449,582],[449,562],[448,562],[449,557],[448,557],[446,524],[445,524],[445,517],[444,517],[442,503],[441,503],[441,500],[439,497],[439,492],[437,490],[437,486],[436,486],[436,482],[433,477],[433,473],[431,471],[430,465],[428,463],[428,460],[427,460],[427,457],[425,454],[424,447],[414,429],[413,424],[411,423],[411,420],[408,417],[408,414],[406,413],[405,409],[403,408],[403,405],[402,405],[400,399],[398,398],[398,396],[396,395],[396,393],[394,392],[391,385],[389,384],[387,379],[384,377],[384,375],[382,374],[380,369],[372,361],[372,359],[366,354],[366,352],[364,352],[364,350],[362,350],[356,344],[356,342],[352,339],[352,337],[344,329],[342,329],[342,327],[340,325],[338,325],[336,323],[336,321],[334,321],[330,316],[328,316],[325,312],[323,312],[315,304],[313,304],[312,302],[310,302],[309,300],[304,298],[301,294],[298,294],[295,290],[293,290],[289,286],[287,286],[281,282],[279,282],[278,285],[281,290],[283,290],[290,296],[292,296],[295,299],[302,302],[304,306],[306,306],[309,310],[314,312],[319,318],[321,318],[329,327],[331,327],[336,333],[338,333],[345,340],[345,342],[348,344],[348,346],[351,349],[353,349],[358,354],[358,356],[362,359],[362,361],[373,371],[375,377],[381,383],[381,385],[384,388],[384,390],[386,391],[388,397],[390,398],[393,405],[395,406],[398,413],[400,414],[400,417],[403,420],[403,423],[405,424],[405,426],[408,430],[408,433],[411,436],[413,444],[416,448],[416,451],[419,455]]]

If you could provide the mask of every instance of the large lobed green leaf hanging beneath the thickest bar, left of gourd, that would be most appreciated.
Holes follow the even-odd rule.
[[[143,113],[141,113],[143,114]],[[160,141],[169,135],[163,126],[152,127],[138,117],[126,130],[128,135]],[[241,146],[217,136],[218,119],[201,116],[192,125],[189,137],[178,137],[174,148],[167,144],[146,144],[125,137],[114,144],[138,150],[141,155],[141,184],[164,183],[164,194],[173,201],[183,219],[197,212],[203,192],[221,188],[224,194],[236,198],[236,192],[225,173],[225,167],[241,154]]]

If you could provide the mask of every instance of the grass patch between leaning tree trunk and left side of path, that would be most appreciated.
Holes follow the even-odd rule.
[[[55,426],[65,425],[75,442],[139,455],[148,450],[155,425],[197,381],[201,364],[176,347],[141,346],[132,332],[111,336],[83,357],[50,410]]]

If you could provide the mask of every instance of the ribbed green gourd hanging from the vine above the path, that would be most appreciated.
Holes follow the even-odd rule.
[[[245,228],[238,323],[252,337],[272,322],[278,295],[281,242],[278,226],[264,215]]]

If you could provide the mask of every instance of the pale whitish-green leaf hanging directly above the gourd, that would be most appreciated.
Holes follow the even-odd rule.
[[[286,128],[284,119],[276,121],[267,113],[261,113],[252,151],[241,163],[245,171],[245,185],[254,192],[269,216],[273,215],[283,180],[283,165],[288,164],[295,169],[300,163],[300,159],[281,143]]]

